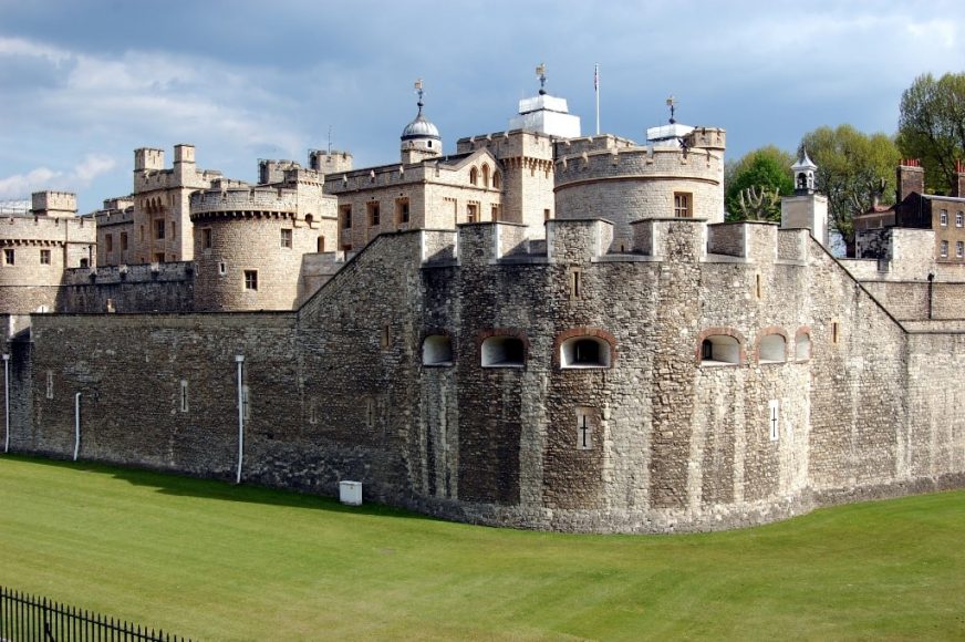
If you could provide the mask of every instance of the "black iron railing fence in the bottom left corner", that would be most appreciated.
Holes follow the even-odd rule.
[[[0,587],[0,642],[189,642],[186,638],[142,628]]]

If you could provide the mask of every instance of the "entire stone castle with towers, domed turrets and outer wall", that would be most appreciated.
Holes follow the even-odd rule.
[[[724,222],[723,130],[519,107],[452,155],[419,93],[398,163],[248,185],[178,145],[93,216],[35,195],[0,222],[4,449],[596,532],[965,483],[934,230],[838,260],[806,159],[781,226]]]

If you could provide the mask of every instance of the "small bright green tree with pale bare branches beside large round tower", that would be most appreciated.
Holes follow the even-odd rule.
[[[791,176],[793,157],[774,145],[745,154],[739,161],[728,164],[724,170],[724,206],[727,220],[745,220],[759,216],[766,220],[780,220],[780,199],[765,196],[764,191],[787,196],[795,190]],[[751,191],[753,190],[753,191]],[[744,204],[741,205],[741,195]]]

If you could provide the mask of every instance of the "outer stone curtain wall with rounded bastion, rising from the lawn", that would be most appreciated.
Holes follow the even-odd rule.
[[[421,262],[439,232],[378,237],[297,313],[38,317],[13,356],[13,449],[69,456],[81,392],[81,457],[232,478],[245,354],[245,479],[357,479],[474,522],[720,529],[957,483],[961,335],[910,340],[816,241],[776,261],[774,226],[743,226],[746,259],[714,261],[703,222],[653,225],[660,261],[598,256],[605,221],[554,221],[548,255],[501,258],[513,226],[470,225],[458,262]],[[609,367],[562,367],[581,333]],[[714,334],[739,363],[702,363]],[[423,364],[429,335],[450,362]],[[774,335],[786,361],[761,363]],[[494,338],[523,362],[484,366]]]

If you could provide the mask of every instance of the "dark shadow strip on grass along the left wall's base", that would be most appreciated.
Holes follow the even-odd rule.
[[[189,477],[187,475],[148,468],[129,468],[125,466],[98,464],[94,462],[69,462],[64,459],[50,459],[32,455],[0,455],[0,462],[10,459],[49,466],[52,468],[65,468],[110,475],[115,479],[127,482],[133,486],[155,488],[156,493],[175,497],[199,497],[204,499],[217,499],[221,501],[241,501],[247,504],[263,504],[269,506],[282,506],[288,508],[305,508],[311,510],[325,510],[329,512],[347,512],[352,515],[370,515],[378,517],[395,517],[404,519],[422,519],[429,521],[443,521],[440,519],[413,512],[402,508],[394,508],[383,504],[369,503],[362,506],[346,506],[333,497],[310,495],[297,490],[270,488],[256,484],[232,484],[224,479],[207,477]]]

